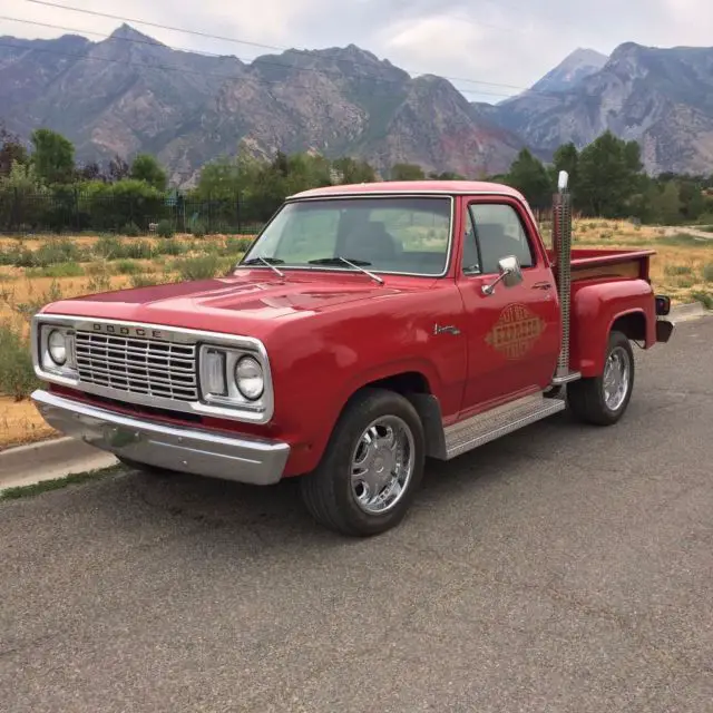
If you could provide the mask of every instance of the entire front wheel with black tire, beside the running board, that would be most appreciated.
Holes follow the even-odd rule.
[[[403,519],[424,460],[423,426],[410,401],[365,389],[344,409],[318,468],[301,478],[302,499],[329,529],[379,535]]]

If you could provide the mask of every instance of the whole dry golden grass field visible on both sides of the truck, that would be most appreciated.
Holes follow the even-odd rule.
[[[575,247],[654,248],[656,291],[713,307],[713,240],[596,219],[575,222],[574,234]],[[225,274],[251,240],[0,237],[0,450],[50,434],[26,398],[33,385],[26,341],[33,312],[60,297]]]

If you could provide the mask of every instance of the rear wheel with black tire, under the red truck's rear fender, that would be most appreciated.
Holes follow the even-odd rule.
[[[634,390],[634,352],[622,332],[609,334],[604,370],[567,387],[569,410],[579,421],[613,426],[626,411]]]

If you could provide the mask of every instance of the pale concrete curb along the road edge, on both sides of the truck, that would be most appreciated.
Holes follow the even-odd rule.
[[[703,303],[680,304],[671,309],[674,322],[687,322],[713,314]],[[117,459],[74,438],[55,438],[0,451],[0,490],[55,478],[109,468]]]

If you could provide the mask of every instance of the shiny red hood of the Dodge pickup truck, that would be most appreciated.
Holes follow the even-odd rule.
[[[43,312],[165,324],[262,336],[275,321],[301,319],[363,300],[379,300],[431,282],[385,277],[378,285],[367,275],[289,273],[286,281],[265,271],[251,271],[199,282],[120,290],[62,300]]]

